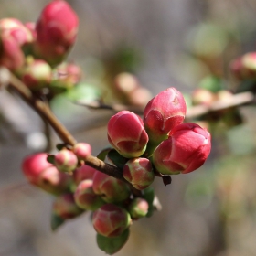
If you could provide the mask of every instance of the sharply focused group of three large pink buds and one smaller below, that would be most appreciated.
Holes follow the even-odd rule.
[[[128,111],[112,116],[109,142],[128,158],[123,176],[133,187],[150,186],[154,170],[172,175],[192,172],[204,164],[210,152],[210,134],[195,123],[183,123],[186,110],[182,93],[168,88],[147,103],[144,119]]]

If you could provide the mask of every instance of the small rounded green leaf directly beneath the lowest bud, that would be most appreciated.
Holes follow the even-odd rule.
[[[105,251],[107,254],[112,255],[123,248],[124,244],[129,238],[129,234],[129,229],[125,229],[121,236],[115,238],[107,238],[97,234],[96,240],[98,247],[101,249],[101,251]]]

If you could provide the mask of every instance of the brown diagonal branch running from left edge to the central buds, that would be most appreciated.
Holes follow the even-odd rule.
[[[33,93],[27,88],[27,86],[16,78],[8,69],[4,67],[0,67],[0,88],[1,86],[9,85],[12,89],[14,89],[24,101],[27,102],[28,105],[34,109],[44,121],[47,121],[49,125],[54,129],[54,131],[59,135],[59,138],[65,143],[73,146],[76,144],[75,138],[69,133],[66,127],[59,122],[57,117],[51,112],[48,104],[35,98]],[[91,167],[105,173],[109,176],[113,176],[118,179],[123,178],[122,171],[113,165],[109,165],[101,161],[99,158],[95,156],[88,156],[85,160],[86,165],[90,165]]]

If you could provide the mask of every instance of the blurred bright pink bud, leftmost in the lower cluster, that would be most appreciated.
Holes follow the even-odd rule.
[[[22,163],[22,170],[31,184],[37,185],[40,182],[40,175],[48,167],[53,166],[47,161],[46,153],[28,155]]]

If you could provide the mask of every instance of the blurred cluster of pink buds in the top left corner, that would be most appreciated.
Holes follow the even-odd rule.
[[[48,88],[49,98],[67,91],[81,78],[79,66],[63,62],[78,25],[78,16],[64,0],[52,0],[36,23],[1,19],[0,66],[15,72],[32,91]]]

